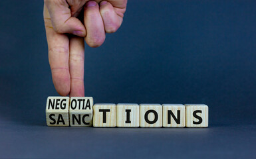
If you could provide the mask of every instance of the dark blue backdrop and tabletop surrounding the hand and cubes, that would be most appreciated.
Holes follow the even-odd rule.
[[[0,1],[0,158],[256,158],[255,1],[128,1],[85,48],[94,103],[205,103],[207,129],[47,127],[43,1]]]

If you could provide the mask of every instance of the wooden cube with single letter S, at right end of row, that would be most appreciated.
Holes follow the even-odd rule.
[[[208,106],[186,104],[186,127],[208,127]]]

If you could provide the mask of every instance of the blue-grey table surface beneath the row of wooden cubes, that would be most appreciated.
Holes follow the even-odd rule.
[[[1,158],[255,158],[255,125],[207,129],[1,123]]]

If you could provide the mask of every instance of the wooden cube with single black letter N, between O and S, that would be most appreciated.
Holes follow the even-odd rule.
[[[163,127],[185,127],[186,111],[182,104],[163,104]]]

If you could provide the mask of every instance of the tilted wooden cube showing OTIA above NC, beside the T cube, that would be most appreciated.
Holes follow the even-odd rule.
[[[92,97],[71,97],[69,121],[71,127],[92,126]]]

